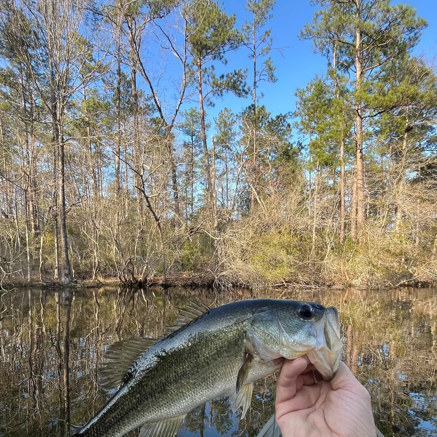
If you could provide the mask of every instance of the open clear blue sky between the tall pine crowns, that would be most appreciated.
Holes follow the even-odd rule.
[[[395,3],[395,2],[394,2]],[[415,55],[425,55],[431,62],[436,63],[437,57],[437,0],[409,0],[406,4],[412,5],[420,17],[428,21],[428,28],[423,31],[423,36],[416,47]],[[236,14],[238,27],[244,21],[250,20],[250,14],[246,12],[244,0],[225,0],[225,11],[228,14]],[[305,85],[316,74],[323,75],[326,72],[326,59],[312,52],[310,41],[300,41],[299,31],[305,23],[312,20],[315,7],[308,0],[277,0],[273,10],[273,18],[268,22],[272,28],[274,47],[282,47],[282,54],[276,50],[271,52],[271,57],[276,66],[276,83],[261,83],[258,92],[264,94],[260,104],[264,104],[268,111],[273,114],[291,111],[295,106],[296,88]],[[248,68],[251,59],[247,53],[240,49],[236,53],[229,53],[228,68]],[[250,80],[248,81],[250,83]],[[223,100],[216,100],[215,107],[208,108],[208,119],[213,121],[218,111],[227,107],[234,112],[240,111],[251,103],[251,97],[241,99],[232,95],[226,95]],[[194,106],[190,104],[189,106]]]

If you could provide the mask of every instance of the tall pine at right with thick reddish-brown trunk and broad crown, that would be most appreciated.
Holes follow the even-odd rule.
[[[336,68],[352,78],[349,94],[355,111],[355,170],[351,236],[357,239],[365,219],[363,146],[369,119],[386,105],[375,102],[374,84],[393,59],[402,58],[417,44],[426,22],[412,7],[389,0],[314,0],[314,13],[301,37],[312,39],[317,52],[330,60],[336,50]],[[359,238],[362,241],[362,238]]]

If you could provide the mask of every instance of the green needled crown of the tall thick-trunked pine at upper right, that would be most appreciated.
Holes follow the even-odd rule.
[[[312,23],[305,25],[301,38],[311,39],[316,52],[325,55],[331,66],[335,53],[336,69],[353,78],[349,86],[343,87],[352,106],[359,105],[371,121],[399,105],[398,90],[387,90],[381,78],[391,65],[399,68],[399,61],[419,41],[426,21],[417,17],[412,7],[391,5],[390,0],[313,3],[322,8],[314,13]],[[357,35],[361,35],[359,40]],[[361,72],[358,82],[357,68]]]

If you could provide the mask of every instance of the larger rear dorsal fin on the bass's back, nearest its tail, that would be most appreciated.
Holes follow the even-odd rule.
[[[103,363],[97,378],[104,390],[112,390],[125,382],[135,361],[161,338],[128,338],[108,347],[104,355],[111,361]]]

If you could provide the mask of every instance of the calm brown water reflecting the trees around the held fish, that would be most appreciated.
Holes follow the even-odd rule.
[[[28,290],[0,298],[0,435],[66,436],[108,399],[97,386],[104,348],[159,336],[189,298],[251,297],[335,305],[343,361],[371,392],[385,436],[437,435],[437,289],[391,291]],[[178,436],[254,436],[274,408],[275,375],[257,383],[243,421],[226,398],[193,411]],[[136,435],[135,433],[133,435]]]

